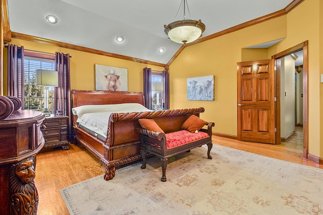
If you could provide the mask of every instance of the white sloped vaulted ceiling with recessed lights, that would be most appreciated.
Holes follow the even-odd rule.
[[[168,39],[164,25],[175,18],[181,0],[7,0],[10,30],[108,53],[166,64],[182,44]],[[188,0],[202,37],[285,9],[292,0]],[[186,14],[188,14],[186,9]],[[58,18],[56,24],[47,15]],[[117,36],[123,42],[117,42]],[[277,41],[276,41],[277,42]],[[272,45],[272,43],[268,43]],[[267,46],[268,46],[267,44]],[[256,45],[256,44],[255,44]],[[163,53],[158,50],[164,48]]]

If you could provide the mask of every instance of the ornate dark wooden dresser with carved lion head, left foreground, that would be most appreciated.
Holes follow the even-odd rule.
[[[17,99],[0,95],[0,214],[36,214],[35,155],[44,145],[45,115],[18,110]]]

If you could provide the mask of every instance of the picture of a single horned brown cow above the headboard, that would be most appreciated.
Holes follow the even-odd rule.
[[[128,91],[128,69],[95,64],[95,90]]]

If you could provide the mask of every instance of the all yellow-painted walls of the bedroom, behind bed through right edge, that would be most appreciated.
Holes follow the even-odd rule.
[[[321,12],[321,13],[320,13]],[[213,121],[214,132],[237,135],[237,62],[271,58],[290,47],[308,40],[308,125],[309,153],[323,158],[323,3],[305,0],[285,16],[275,18],[239,31],[187,46],[172,62],[170,73],[171,108],[204,107],[201,118]],[[285,38],[262,50],[246,50],[248,46]],[[128,68],[128,91],[143,91],[144,67],[163,70],[163,67],[105,57],[56,46],[19,39],[13,44],[25,49],[55,53],[70,53],[72,89],[94,90],[94,64]],[[6,52],[6,49],[4,50]],[[4,54],[6,57],[6,54]],[[4,58],[6,62],[6,58]],[[4,71],[6,71],[6,65]],[[5,73],[5,72],[4,72]],[[214,76],[214,101],[188,101],[187,78]],[[7,79],[4,74],[4,80]],[[4,83],[4,95],[6,95]]]

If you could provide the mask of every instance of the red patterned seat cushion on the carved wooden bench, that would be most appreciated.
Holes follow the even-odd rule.
[[[167,149],[178,147],[188,142],[195,141],[208,137],[205,132],[198,131],[197,133],[191,133],[188,130],[180,130],[171,133],[166,133]]]

